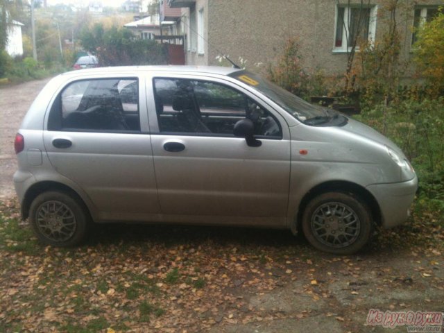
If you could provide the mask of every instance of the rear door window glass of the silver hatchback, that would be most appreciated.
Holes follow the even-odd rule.
[[[139,132],[136,78],[80,80],[70,83],[49,114],[49,130]]]

